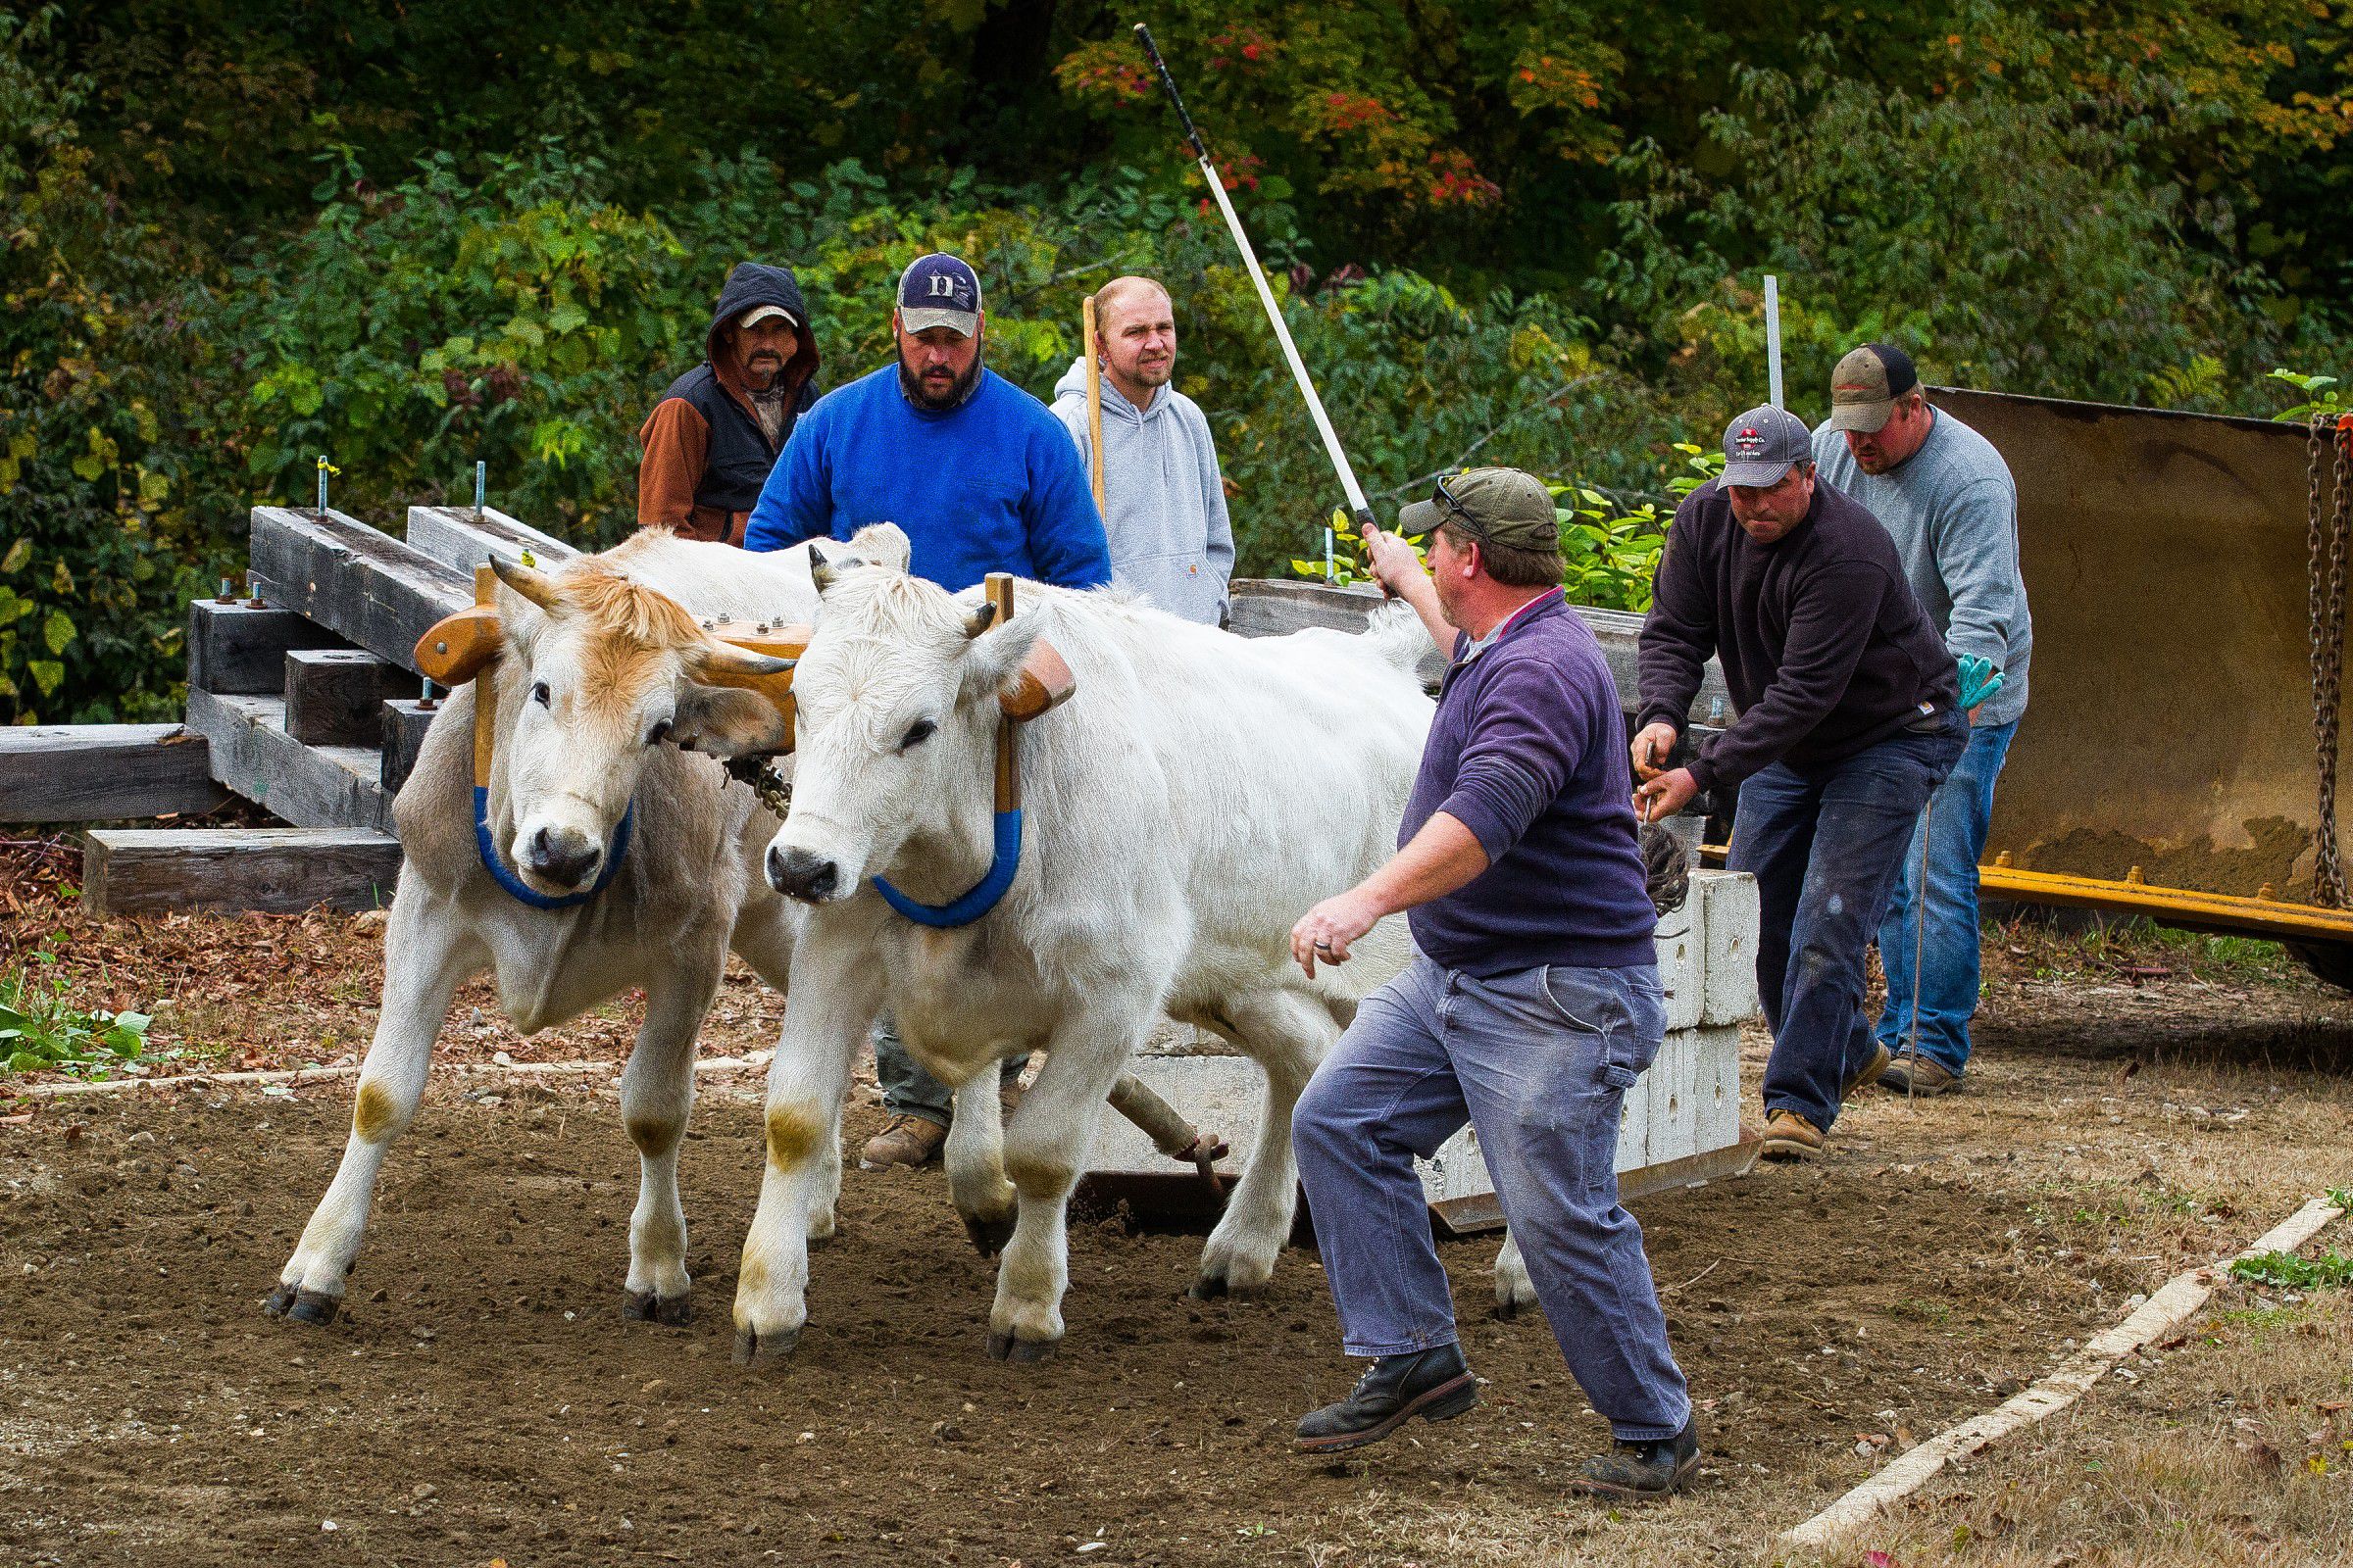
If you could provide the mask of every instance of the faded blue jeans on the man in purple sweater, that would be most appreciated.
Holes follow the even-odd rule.
[[[1626,1088],[1659,1056],[1659,971],[1522,969],[1475,980],[1417,957],[1355,1013],[1292,1117],[1351,1356],[1454,1342],[1454,1295],[1414,1173],[1468,1119],[1560,1354],[1626,1441],[1682,1432],[1642,1227],[1617,1201]]]

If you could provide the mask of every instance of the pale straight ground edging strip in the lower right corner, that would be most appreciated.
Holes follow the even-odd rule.
[[[2257,1253],[2292,1253],[2318,1237],[2329,1222],[2344,1218],[2344,1208],[2337,1208],[2327,1199],[2311,1199],[2280,1225],[2257,1237],[2254,1244],[2235,1258],[2224,1258],[2221,1262],[2174,1274],[2158,1288],[2155,1295],[2141,1302],[2132,1316],[2115,1328],[2094,1335],[2089,1345],[2061,1361],[2052,1375],[2042,1378],[2031,1389],[2009,1396],[1993,1410],[1972,1415],[1958,1427],[1948,1427],[1918,1448],[1901,1453],[1845,1497],[1793,1530],[1786,1530],[1781,1542],[1791,1547],[1828,1547],[1847,1530],[1868,1523],[1887,1505],[1920,1490],[1929,1476],[1953,1460],[1967,1458],[2019,1427],[2031,1427],[2047,1415],[2057,1415],[2082,1399],[2111,1366],[2151,1340],[2172,1333],[2200,1307],[2205,1307],[2207,1298],[2214,1295],[2214,1286],[2228,1274],[2238,1258],[2252,1258]]]

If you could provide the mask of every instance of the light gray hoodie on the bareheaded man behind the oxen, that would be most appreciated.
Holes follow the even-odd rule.
[[[1087,449],[1087,362],[1073,360],[1054,383],[1054,418]],[[1219,625],[1233,576],[1233,522],[1226,482],[1200,404],[1162,386],[1139,409],[1104,376],[1104,536],[1111,576],[1151,604]]]

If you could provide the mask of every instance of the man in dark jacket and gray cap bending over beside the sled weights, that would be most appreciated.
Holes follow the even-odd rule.
[[[1711,654],[1739,719],[1668,769]],[[1729,865],[1758,879],[1758,992],[1774,1034],[1762,1152],[1812,1159],[1845,1095],[1887,1067],[1864,1016],[1864,945],[1969,722],[1894,541],[1817,482],[1795,414],[1734,418],[1725,473],[1675,508],[1640,677],[1635,804],[1661,818],[1739,785]]]

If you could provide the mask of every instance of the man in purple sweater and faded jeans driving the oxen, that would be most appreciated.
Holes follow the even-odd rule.
[[[1402,910],[1421,954],[1365,999],[1292,1117],[1344,1345],[1374,1359],[1297,1441],[1358,1448],[1478,1403],[1414,1175],[1468,1119],[1553,1338],[1617,1436],[1579,1486],[1659,1497],[1699,1441],[1617,1201],[1619,1105],[1666,1034],[1617,686],[1560,597],[1539,480],[1452,475],[1398,527],[1435,529],[1431,574],[1367,527],[1372,569],[1452,663],[1395,858],[1308,910],[1292,954],[1313,976]]]

